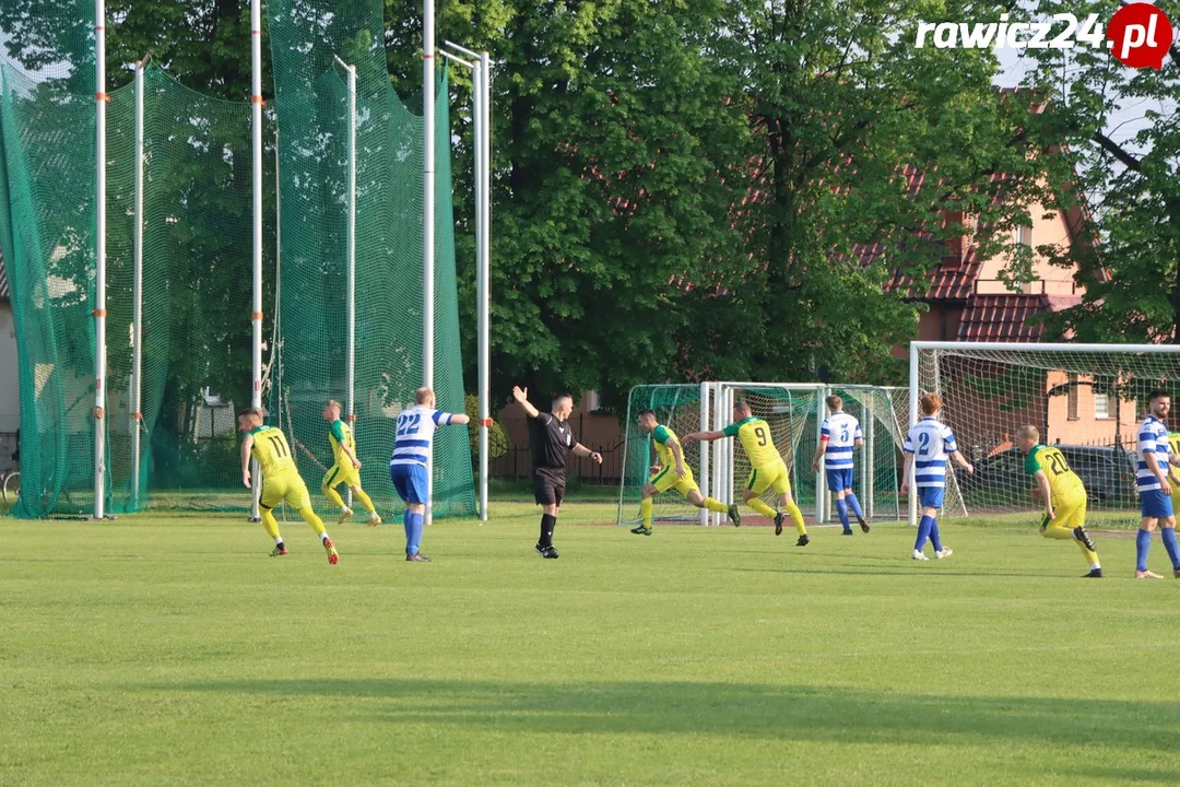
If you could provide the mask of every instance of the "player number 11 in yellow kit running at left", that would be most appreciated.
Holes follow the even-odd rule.
[[[291,458],[290,446],[282,429],[273,426],[263,426],[261,409],[243,409],[237,414],[237,431],[243,432],[242,440],[242,484],[245,488],[250,486],[250,457],[253,455],[262,470],[262,494],[258,500],[258,510],[262,512],[262,526],[267,533],[275,539],[275,549],[271,557],[287,555],[287,545],[278,533],[278,523],[275,522],[273,509],[287,501],[293,509],[299,511],[303,522],[312,525],[323,543],[323,549],[328,552],[328,563],[335,565],[340,562],[336,547],[328,538],[328,531],[323,527],[323,520],[315,516],[312,510],[312,499],[307,493],[307,485],[295,467]]]

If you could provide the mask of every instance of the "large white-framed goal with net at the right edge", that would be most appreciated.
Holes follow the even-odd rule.
[[[974,476],[948,473],[946,516],[1040,516],[1015,444],[1032,425],[1086,485],[1092,525],[1139,522],[1138,426],[1148,392],[1180,393],[1180,347],[914,342],[910,363],[911,418],[920,392],[940,394],[942,418],[975,465]]]

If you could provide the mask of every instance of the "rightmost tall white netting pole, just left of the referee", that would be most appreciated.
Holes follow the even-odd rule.
[[[479,518],[487,522],[487,450],[491,413],[491,291],[492,291],[492,59],[487,52],[479,54],[480,100],[476,101],[477,113],[483,123],[480,131],[483,166],[480,168],[483,215],[480,223],[479,281]],[[478,203],[477,203],[478,204]]]

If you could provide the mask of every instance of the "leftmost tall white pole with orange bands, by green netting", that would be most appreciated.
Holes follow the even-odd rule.
[[[96,268],[94,276],[94,519],[106,506],[106,0],[94,0]]]

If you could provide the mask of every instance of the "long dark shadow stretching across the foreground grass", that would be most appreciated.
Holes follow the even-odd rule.
[[[847,688],[374,678],[212,681],[135,684],[133,689],[347,700],[339,706],[340,713],[392,726],[447,723],[523,733],[712,734],[902,746],[1031,742],[1076,748],[1099,743],[1166,759],[1175,756],[1174,741],[1180,734],[1180,704],[1174,702],[939,696]],[[1094,765],[1093,773],[1081,766],[1086,775],[1112,775]],[[1136,768],[1136,773],[1180,781],[1180,770],[1165,774]]]

